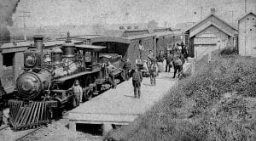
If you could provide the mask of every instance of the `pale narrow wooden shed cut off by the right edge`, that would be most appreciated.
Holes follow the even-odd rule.
[[[244,14],[238,20],[238,51],[243,56],[256,57],[256,15]]]

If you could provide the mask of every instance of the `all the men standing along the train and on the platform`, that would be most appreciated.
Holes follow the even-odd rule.
[[[176,77],[176,74],[178,73],[178,77],[183,73],[183,64],[185,62],[185,59],[187,57],[187,50],[186,48],[183,46],[183,42],[181,42],[180,45],[176,44],[177,46],[175,46],[175,48],[172,48],[171,50],[166,49],[166,54],[164,53],[164,51],[160,51],[160,54],[155,57],[155,55],[153,54],[152,50],[149,50],[148,53],[148,59],[146,61],[146,65],[148,68],[148,72],[149,72],[149,76],[150,76],[150,84],[151,86],[156,86],[156,80],[155,77],[158,75],[158,65],[157,62],[164,62],[164,60],[166,60],[166,72],[170,72],[171,68],[173,66],[174,69],[174,75],[172,76],[172,78]],[[181,46],[181,48],[177,48]],[[143,63],[142,63],[142,51],[144,50],[142,42],[140,42],[140,55],[137,56],[136,59],[136,64],[137,67],[134,69],[134,72],[131,71],[131,62],[129,59],[123,60],[123,69],[125,71],[125,80],[129,80],[130,77],[132,77],[132,86],[134,88],[134,97],[135,98],[140,98],[141,96],[141,82],[143,81],[143,74],[142,74],[142,69],[143,69]],[[112,65],[110,63],[107,64],[107,71],[108,71],[108,78],[110,84],[113,85],[113,88],[116,87],[116,84],[114,82],[114,76],[112,75],[111,72],[111,67]],[[77,87],[76,87],[77,86]],[[82,100],[81,97],[81,87],[79,87],[79,82],[75,82],[74,84],[74,91],[78,91],[77,94],[77,98],[78,101]]]

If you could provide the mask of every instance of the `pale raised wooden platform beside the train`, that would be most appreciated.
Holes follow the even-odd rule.
[[[134,98],[130,79],[130,81],[119,84],[116,89],[110,89],[96,98],[80,104],[79,107],[69,111],[69,128],[76,130],[76,123],[129,124],[163,98],[177,82],[177,78],[172,78],[172,72],[161,72],[160,76],[156,78],[155,87],[150,85],[149,77],[144,77],[140,99]]]

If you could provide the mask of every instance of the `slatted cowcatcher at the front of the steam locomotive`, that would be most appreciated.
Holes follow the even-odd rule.
[[[49,123],[49,109],[45,102],[9,100],[9,123],[15,130],[29,129]]]

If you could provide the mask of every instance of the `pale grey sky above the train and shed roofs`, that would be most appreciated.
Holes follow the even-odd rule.
[[[224,20],[237,20],[245,12],[245,0],[20,0],[13,14],[14,26],[23,26],[20,11],[25,10],[27,27],[45,25],[93,25],[147,23],[155,20],[174,26],[197,22],[216,8]],[[247,11],[256,12],[256,0],[247,0]]]

